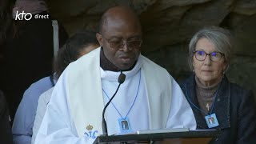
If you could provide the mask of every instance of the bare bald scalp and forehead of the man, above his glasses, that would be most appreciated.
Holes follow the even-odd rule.
[[[108,21],[135,22],[141,29],[141,24],[137,14],[135,14],[133,10],[126,6],[114,6],[109,10],[106,10],[99,22],[99,34],[104,32]]]

